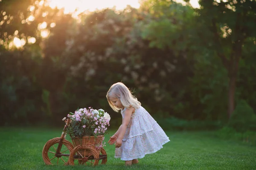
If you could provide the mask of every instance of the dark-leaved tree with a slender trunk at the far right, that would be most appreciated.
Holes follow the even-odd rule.
[[[228,117],[235,108],[236,82],[239,72],[239,60],[247,50],[256,47],[256,1],[255,0],[200,0],[198,29],[209,31],[201,37],[209,49],[216,51],[229,78]],[[246,51],[244,51],[246,49]],[[250,53],[250,52],[249,52]]]

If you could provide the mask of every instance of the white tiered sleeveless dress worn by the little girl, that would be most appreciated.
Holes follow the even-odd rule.
[[[126,108],[121,111],[123,118],[125,110]],[[140,159],[145,154],[157,152],[169,141],[169,137],[154,118],[140,106],[131,116],[122,139],[122,146],[116,148],[115,158],[121,158],[124,161]]]

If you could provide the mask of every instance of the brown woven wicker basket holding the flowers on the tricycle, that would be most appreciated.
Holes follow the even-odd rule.
[[[100,153],[103,139],[104,139],[104,136],[97,136],[97,137],[83,136],[82,138],[79,138],[79,137],[72,138],[72,142],[75,147],[79,145],[92,146],[97,150],[98,153]],[[79,150],[79,153],[84,155],[84,150]],[[88,154],[91,154],[90,151],[88,151]]]

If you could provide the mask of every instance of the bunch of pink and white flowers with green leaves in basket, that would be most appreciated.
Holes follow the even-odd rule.
[[[110,116],[103,109],[80,108],[67,115],[72,122],[67,127],[71,138],[83,136],[100,136],[107,133]]]

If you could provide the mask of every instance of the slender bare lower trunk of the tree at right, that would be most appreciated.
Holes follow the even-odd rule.
[[[236,76],[230,76],[229,87],[228,87],[228,118],[235,109],[235,92],[236,92]]]

